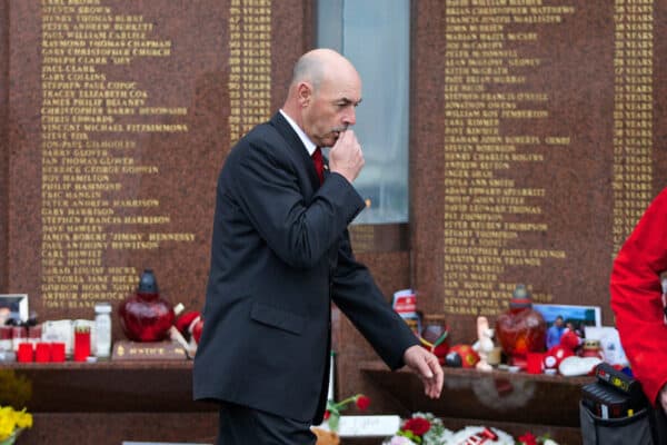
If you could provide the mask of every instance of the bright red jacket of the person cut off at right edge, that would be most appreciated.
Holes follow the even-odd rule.
[[[667,326],[660,273],[667,270],[667,188],[650,204],[614,260],[611,309],[635,377],[651,403],[667,383]]]

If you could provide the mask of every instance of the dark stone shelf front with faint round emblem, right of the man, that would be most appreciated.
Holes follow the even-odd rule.
[[[419,378],[409,370],[390,372],[379,360],[361,362],[365,377],[400,404],[406,412],[430,412],[446,426],[497,426],[510,434],[549,433],[568,444],[580,443],[581,386],[593,376],[563,377],[492,370],[445,368],[439,399],[424,394]]]

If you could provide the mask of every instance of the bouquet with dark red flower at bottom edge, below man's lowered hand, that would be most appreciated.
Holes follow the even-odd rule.
[[[442,421],[431,413],[415,413],[382,445],[442,445],[451,436],[451,431],[445,428]]]

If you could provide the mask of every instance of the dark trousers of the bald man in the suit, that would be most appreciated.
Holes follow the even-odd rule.
[[[226,402],[220,405],[217,445],[315,445],[316,441],[308,422]]]

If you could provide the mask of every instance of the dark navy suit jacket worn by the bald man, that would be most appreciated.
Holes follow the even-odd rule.
[[[352,256],[364,200],[340,175],[319,180],[280,115],[231,150],[217,189],[196,399],[318,424],[327,395],[330,301],[391,368],[417,344]]]

